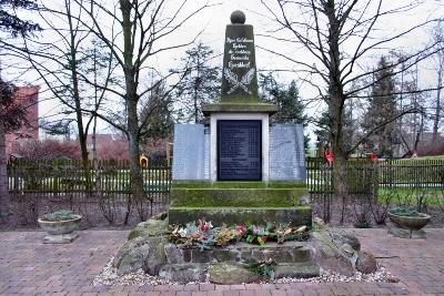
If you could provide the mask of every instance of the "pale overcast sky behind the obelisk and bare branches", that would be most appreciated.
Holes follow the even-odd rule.
[[[175,1],[178,2],[178,1]],[[256,35],[256,64],[259,70],[294,70],[294,64],[289,63],[289,61],[275,57],[269,52],[260,50],[259,47],[266,48],[273,51],[279,51],[281,53],[287,54],[292,58],[296,58],[302,61],[307,61],[311,63],[311,57],[307,54],[306,50],[301,50],[297,47],[289,47],[287,44],[283,44],[282,42],[278,42],[270,38],[264,38],[262,35],[269,34],[270,30],[274,29],[276,23],[271,20],[271,14],[266,11],[265,7],[259,0],[228,0],[228,1],[218,1],[213,0],[213,7],[208,8],[203,12],[200,12],[199,16],[192,18],[188,23],[185,23],[178,34],[173,35],[170,39],[164,39],[164,44],[171,43],[182,43],[188,42],[193,39],[195,34],[203,30],[202,34],[199,37],[203,43],[210,45],[215,53],[222,53],[223,44],[224,44],[224,31],[225,25],[230,23],[230,14],[234,10],[242,10],[246,14],[246,23],[254,25],[254,33]],[[272,4],[275,1],[266,0],[266,3]],[[376,2],[376,1],[375,1]],[[405,0],[385,0],[384,7],[389,8],[390,6],[397,6],[400,3],[407,2]],[[53,3],[60,3],[58,0],[53,0]],[[174,0],[171,1],[174,4]],[[190,0],[188,4],[188,10],[195,8],[198,3],[202,3],[201,0]],[[398,14],[396,18],[389,18],[386,20],[382,20],[377,29],[380,31],[375,31],[375,35],[390,35],[395,33],[402,29],[408,28],[415,23],[421,22],[425,19],[443,17],[444,4],[443,1],[436,0],[426,0],[424,4],[416,8],[413,11],[407,13]],[[300,16],[297,11],[292,11],[291,17],[297,19]],[[290,34],[286,34],[290,37]],[[396,50],[412,50],[414,48],[418,48],[424,45],[428,41],[428,32],[423,30],[414,31],[408,38],[397,40],[395,43],[392,43],[391,47]],[[151,63],[155,63],[157,68],[162,71],[168,71],[168,69],[176,67],[180,59],[183,57],[185,49],[179,49],[174,51],[164,52],[163,54],[152,60]],[[389,49],[383,49],[381,53],[385,53]],[[219,58],[218,61],[214,61],[216,64],[222,64],[222,57]],[[313,62],[315,62],[313,60]],[[422,63],[420,65],[421,69],[421,83],[425,86],[428,86],[435,83],[434,71],[431,71],[431,63]],[[28,81],[32,81],[36,75],[33,73],[28,73],[24,79]],[[291,79],[297,79],[299,73],[282,73],[281,78],[285,81],[290,81]],[[313,91],[307,88],[307,85],[301,84],[301,95],[305,99],[309,99],[313,95]],[[44,86],[42,86],[42,95],[41,99],[44,99]],[[54,112],[56,102],[43,102],[40,104],[40,114],[46,116],[50,115],[51,112]],[[312,115],[316,112],[317,109],[310,109],[307,112]],[[103,125],[102,125],[103,127]]]

